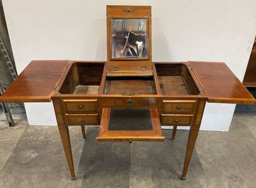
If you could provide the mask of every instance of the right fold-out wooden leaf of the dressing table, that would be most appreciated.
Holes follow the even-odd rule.
[[[189,62],[212,103],[254,104],[255,98],[225,63]]]

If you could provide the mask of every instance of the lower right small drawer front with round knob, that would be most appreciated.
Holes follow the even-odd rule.
[[[190,125],[193,115],[161,115],[161,125]]]

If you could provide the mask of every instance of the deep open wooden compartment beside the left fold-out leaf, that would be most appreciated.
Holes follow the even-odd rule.
[[[59,93],[97,95],[104,63],[73,63]]]

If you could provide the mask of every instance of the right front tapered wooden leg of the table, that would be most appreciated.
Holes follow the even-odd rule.
[[[186,179],[187,169],[189,168],[189,162],[194,151],[195,141],[197,140],[197,135],[199,133],[199,126],[191,126],[189,131],[189,139],[187,141],[187,151],[185,154],[185,161],[181,179]]]

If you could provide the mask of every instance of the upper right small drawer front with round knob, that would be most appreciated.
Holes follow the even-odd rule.
[[[162,113],[193,113],[195,107],[195,100],[176,101],[163,100]]]

